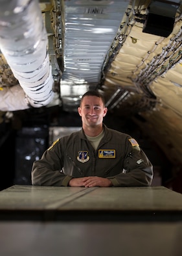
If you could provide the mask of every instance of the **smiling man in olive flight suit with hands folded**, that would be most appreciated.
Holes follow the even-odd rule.
[[[78,107],[82,129],[56,140],[34,162],[32,185],[150,186],[150,160],[134,138],[104,125],[107,111],[101,94],[86,92]]]

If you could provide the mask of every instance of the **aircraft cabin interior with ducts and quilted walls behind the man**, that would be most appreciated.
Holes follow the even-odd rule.
[[[182,3],[0,0],[0,190],[30,185],[32,162],[82,126],[87,90],[104,123],[135,138],[154,182],[182,193]]]

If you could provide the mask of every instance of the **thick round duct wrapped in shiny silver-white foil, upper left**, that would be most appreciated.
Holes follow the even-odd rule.
[[[45,106],[54,96],[54,80],[39,2],[0,0],[0,4],[1,52],[25,92],[27,108]]]

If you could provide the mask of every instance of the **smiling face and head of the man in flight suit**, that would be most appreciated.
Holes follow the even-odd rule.
[[[78,113],[82,117],[83,126],[95,127],[102,123],[108,109],[104,107],[102,99],[97,96],[85,96]]]

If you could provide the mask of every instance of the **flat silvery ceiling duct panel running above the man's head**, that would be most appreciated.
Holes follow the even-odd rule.
[[[128,1],[64,1],[63,63],[60,92],[71,110],[88,88],[97,88]]]

